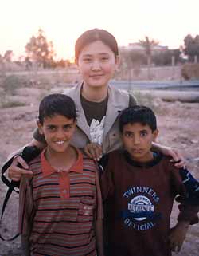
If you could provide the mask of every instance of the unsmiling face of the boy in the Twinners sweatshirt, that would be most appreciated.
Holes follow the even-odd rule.
[[[124,148],[133,160],[146,162],[152,160],[150,152],[152,142],[158,136],[158,130],[152,132],[148,124],[126,124],[123,126],[122,140]]]

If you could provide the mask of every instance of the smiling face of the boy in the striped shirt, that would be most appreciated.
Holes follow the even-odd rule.
[[[39,132],[45,136],[48,148],[53,152],[66,152],[76,130],[76,121],[65,116],[45,117],[44,123],[37,122]]]

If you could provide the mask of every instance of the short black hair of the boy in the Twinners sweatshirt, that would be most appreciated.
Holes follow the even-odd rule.
[[[135,123],[148,124],[152,132],[157,129],[155,114],[152,109],[146,106],[135,105],[124,109],[119,116],[119,131],[122,133],[124,125]]]

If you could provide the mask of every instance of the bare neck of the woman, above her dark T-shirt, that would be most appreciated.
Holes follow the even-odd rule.
[[[92,87],[84,83],[81,89],[81,95],[88,101],[101,102],[107,97],[107,86]]]

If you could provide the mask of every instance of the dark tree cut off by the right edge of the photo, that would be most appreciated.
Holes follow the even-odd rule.
[[[194,57],[197,56],[199,59],[199,35],[195,38],[188,34],[184,39],[184,53],[188,56],[189,61],[194,61]]]

